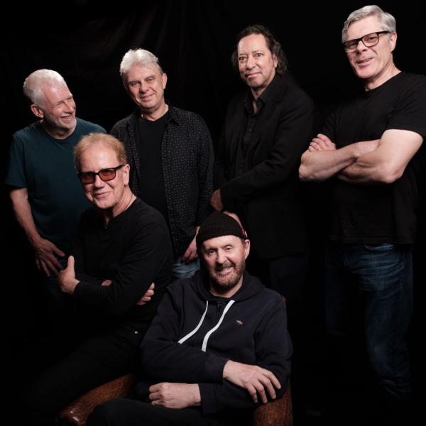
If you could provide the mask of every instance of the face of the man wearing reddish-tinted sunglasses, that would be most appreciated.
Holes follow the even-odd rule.
[[[80,155],[79,171],[94,172],[119,165],[116,152],[102,142],[93,143]],[[83,185],[87,199],[99,209],[114,217],[124,210],[129,202],[129,165],[116,170],[115,178],[104,181],[96,175],[93,183]]]

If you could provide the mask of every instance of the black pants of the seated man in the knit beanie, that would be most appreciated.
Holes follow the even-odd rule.
[[[165,408],[138,400],[116,398],[98,405],[87,426],[224,426],[227,422],[204,417],[199,408]]]

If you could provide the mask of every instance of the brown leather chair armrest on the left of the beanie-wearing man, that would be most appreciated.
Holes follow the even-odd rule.
[[[124,398],[130,395],[135,377],[133,374],[121,376],[92,389],[67,405],[60,413],[61,422],[68,425],[84,426],[87,417],[94,408],[112,398]]]

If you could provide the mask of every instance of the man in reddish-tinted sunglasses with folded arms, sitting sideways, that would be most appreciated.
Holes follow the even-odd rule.
[[[79,344],[31,386],[31,425],[53,424],[82,393],[135,370],[141,339],[171,278],[167,224],[131,192],[121,142],[90,133],[75,148],[75,164],[94,208],[82,215],[74,257],[58,280],[76,303]],[[155,295],[145,304],[152,283]]]

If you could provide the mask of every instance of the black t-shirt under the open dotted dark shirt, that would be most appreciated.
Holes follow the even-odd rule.
[[[169,119],[168,111],[155,121],[143,118],[138,121],[138,155],[141,162],[141,199],[157,209],[165,221],[168,221],[165,202],[163,161],[161,160],[161,142]],[[170,228],[170,224],[169,224]]]

